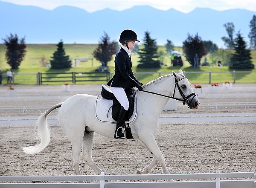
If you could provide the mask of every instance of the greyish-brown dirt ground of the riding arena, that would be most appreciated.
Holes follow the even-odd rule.
[[[247,89],[244,89],[245,86]],[[72,85],[69,92],[60,86],[15,86],[17,97],[6,96],[8,86],[0,86],[0,107],[52,106],[76,93],[97,95],[99,85]],[[204,87],[204,86],[203,86]],[[205,85],[207,87],[207,85]],[[249,88],[249,89],[248,89]],[[237,89],[237,90],[236,90]],[[206,91],[207,92],[207,91]],[[207,102],[255,102],[256,84],[237,84],[221,95],[199,98]],[[234,95],[234,93],[238,95]],[[231,95],[232,94],[232,95]],[[231,97],[228,97],[231,95]],[[178,105],[163,113],[252,113],[256,107],[226,107],[189,110]],[[54,112],[55,115],[57,114]],[[52,115],[54,115],[54,113]],[[0,116],[39,116],[40,110],[1,110]],[[256,171],[256,122],[160,123],[155,138],[172,174]],[[71,144],[61,126],[51,127],[51,142],[38,154],[25,154],[21,147],[34,145],[33,126],[0,127],[0,175],[74,175]],[[105,174],[136,174],[152,156],[140,140],[107,139],[95,135],[93,159]],[[94,171],[80,160],[82,175]],[[151,174],[163,173],[157,163]]]

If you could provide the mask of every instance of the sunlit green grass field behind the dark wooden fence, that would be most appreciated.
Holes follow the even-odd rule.
[[[97,44],[64,44],[64,49],[66,55],[70,56],[70,59],[74,62],[76,58],[93,58],[93,50],[97,47]],[[27,44],[26,48],[26,56],[25,59],[20,64],[19,69],[12,70],[12,72],[19,73],[20,75],[15,75],[15,84],[36,84],[36,76],[37,72],[93,72],[97,67],[101,65],[99,61],[93,58],[93,61],[83,61],[76,65],[76,67],[72,67],[70,69],[50,69],[49,67],[42,67],[40,61],[41,57],[45,57],[45,61],[49,62],[53,52],[57,49],[55,44]],[[158,50],[165,51],[165,46],[159,46]],[[175,47],[175,50],[181,51],[181,47]],[[251,51],[253,64],[256,65],[256,50]],[[113,55],[114,58],[114,55]],[[207,57],[208,59],[208,57]],[[189,78],[191,83],[208,83],[209,82],[209,71],[211,72],[219,72],[211,74],[212,82],[224,82],[224,81],[233,81],[233,73],[223,73],[227,71],[233,71],[233,69],[229,69],[228,67],[200,67],[198,69],[193,69],[190,67],[190,64],[185,61],[183,58],[184,66],[183,67],[170,67],[171,61],[169,55],[164,57],[164,64],[166,67],[161,67],[157,69],[137,69],[137,64],[139,61],[139,57],[137,54],[132,54],[133,61],[133,72],[137,72],[137,78],[143,82],[147,83],[155,78],[159,77],[159,73],[149,73],[149,74],[139,74],[139,72],[163,72],[171,73],[172,71],[178,72],[181,68],[183,71],[186,71],[186,76]],[[256,66],[255,66],[256,67]],[[6,64],[5,60],[5,45],[0,44],[0,68],[3,69],[3,72],[6,72],[7,69],[10,68],[8,64]],[[113,60],[108,62],[108,68],[110,71],[114,72],[114,62]],[[189,72],[198,71],[198,72],[207,72],[207,73],[198,73],[191,74]],[[241,71],[241,70],[236,70]],[[256,71],[254,68],[251,71]],[[23,73],[23,74],[21,74]],[[29,75],[31,74],[31,75]],[[236,73],[236,82],[240,83],[255,83],[256,82],[256,73],[252,72],[250,74],[247,73]],[[3,84],[6,84],[6,78],[3,78]],[[51,84],[61,84],[61,83],[51,83]],[[84,83],[79,83],[84,84]],[[95,82],[88,82],[87,84],[99,84]]]

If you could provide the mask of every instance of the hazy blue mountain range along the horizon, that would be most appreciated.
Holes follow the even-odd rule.
[[[46,10],[0,1],[0,43],[12,33],[19,38],[25,36],[26,43],[58,43],[62,39],[64,43],[97,44],[104,32],[111,41],[118,41],[122,30],[132,29],[137,32],[139,44],[143,43],[147,31],[158,45],[164,45],[168,39],[175,46],[182,46],[188,34],[198,33],[202,40],[211,40],[221,48],[224,47],[221,37],[228,36],[223,26],[227,22],[233,22],[235,34],[240,31],[248,43],[249,24],[254,14],[256,12],[245,9],[216,11],[208,8],[183,13],[151,6],[89,13],[73,6]]]

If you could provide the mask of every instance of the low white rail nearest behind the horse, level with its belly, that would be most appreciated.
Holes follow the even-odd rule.
[[[0,126],[34,125],[38,116],[0,117]],[[161,114],[159,123],[256,121],[256,113]],[[48,124],[58,125],[58,116],[47,116]]]

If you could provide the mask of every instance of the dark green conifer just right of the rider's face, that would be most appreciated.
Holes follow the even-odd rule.
[[[149,32],[145,32],[145,38],[143,39],[143,48],[139,49],[139,68],[156,68],[161,67],[160,61],[157,60],[157,43],[155,39],[151,39]]]

